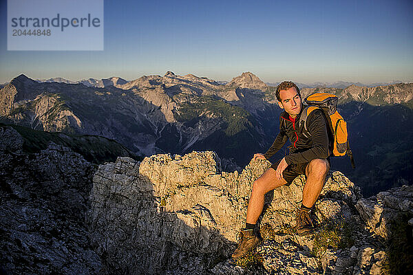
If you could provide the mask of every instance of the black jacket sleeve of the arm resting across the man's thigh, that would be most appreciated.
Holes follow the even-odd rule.
[[[307,129],[313,137],[311,148],[300,153],[286,156],[287,164],[310,162],[313,159],[326,159],[328,157],[328,134],[326,119],[321,110],[315,110],[308,115]]]

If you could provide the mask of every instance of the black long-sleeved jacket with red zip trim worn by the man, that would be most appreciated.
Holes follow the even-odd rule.
[[[305,105],[301,105],[301,113],[304,107]],[[323,111],[317,109],[308,115],[308,138],[301,133],[304,127],[299,127],[301,113],[295,118],[295,123],[290,120],[290,115],[286,111],[279,116],[279,134],[275,137],[273,145],[264,154],[266,159],[277,153],[286,144],[287,139],[291,142],[290,153],[286,155],[287,164],[310,162],[317,158],[326,159],[330,155],[326,118],[324,118]]]

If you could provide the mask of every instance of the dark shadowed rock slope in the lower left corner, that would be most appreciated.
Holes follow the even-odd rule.
[[[10,153],[21,137],[7,129],[1,144],[9,150],[0,148],[1,273],[101,273],[84,222],[94,166],[56,144],[32,155]]]

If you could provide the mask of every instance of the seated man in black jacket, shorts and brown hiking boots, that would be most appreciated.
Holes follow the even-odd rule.
[[[299,117],[304,107],[297,85],[284,81],[278,85],[275,95],[279,107],[284,109],[279,118],[279,134],[271,148],[265,154],[256,153],[253,160],[268,159],[284,146],[287,139],[291,142],[290,153],[275,162],[254,181],[246,212],[246,225],[241,230],[241,242],[232,255],[233,259],[244,256],[260,243],[254,235],[254,229],[264,208],[266,192],[291,184],[298,175],[306,175],[307,179],[303,188],[301,208],[297,210],[295,228],[300,235],[310,233],[315,224],[310,210],[320,195],[330,169],[327,126],[322,111],[317,109],[308,115],[306,123],[310,135],[305,137],[301,133],[304,127],[299,125]]]

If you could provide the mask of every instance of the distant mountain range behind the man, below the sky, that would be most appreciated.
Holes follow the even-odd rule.
[[[301,86],[303,97],[323,91],[339,96],[357,168],[352,170],[346,158],[333,158],[333,168],[362,186],[365,195],[409,182],[413,83],[336,86]],[[240,170],[253,153],[268,149],[279,129],[279,113],[275,87],[251,72],[229,83],[173,72],[77,83],[22,74],[0,90],[0,122],[101,135],[141,156],[213,150],[226,170]]]

